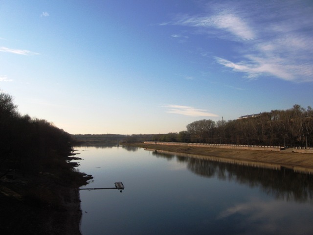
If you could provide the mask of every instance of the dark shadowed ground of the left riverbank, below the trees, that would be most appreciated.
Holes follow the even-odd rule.
[[[0,178],[0,231],[6,235],[81,235],[78,188],[90,179],[90,175],[61,169]]]

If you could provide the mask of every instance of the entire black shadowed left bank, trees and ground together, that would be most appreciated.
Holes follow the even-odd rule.
[[[46,120],[22,116],[0,93],[0,231],[80,234],[77,188],[92,176],[73,160],[70,135]]]

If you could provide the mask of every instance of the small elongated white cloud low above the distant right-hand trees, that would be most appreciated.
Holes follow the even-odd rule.
[[[190,106],[182,106],[182,105],[165,105],[163,106],[167,109],[167,113],[170,114],[179,114],[184,116],[192,116],[192,117],[219,117],[216,114],[210,113],[204,109],[196,109]]]

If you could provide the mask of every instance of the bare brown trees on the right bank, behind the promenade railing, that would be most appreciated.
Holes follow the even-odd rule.
[[[247,145],[313,146],[313,110],[294,105],[249,118],[194,121],[179,133],[155,135],[152,141]]]

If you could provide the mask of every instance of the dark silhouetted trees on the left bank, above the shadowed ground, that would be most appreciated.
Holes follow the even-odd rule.
[[[0,177],[10,171],[22,175],[50,172],[64,179],[77,175],[68,161],[73,140],[52,123],[21,115],[12,96],[0,93]]]

